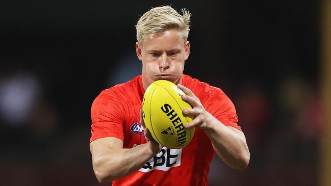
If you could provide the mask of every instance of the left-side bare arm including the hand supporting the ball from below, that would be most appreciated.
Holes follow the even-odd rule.
[[[144,126],[141,114],[140,122]],[[93,170],[100,183],[111,182],[139,170],[161,150],[148,129],[144,128],[147,143],[131,149],[123,149],[123,141],[112,137],[90,143]]]

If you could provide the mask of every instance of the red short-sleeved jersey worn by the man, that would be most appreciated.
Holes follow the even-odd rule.
[[[192,90],[206,111],[226,126],[237,125],[232,101],[219,88],[183,74],[182,85]],[[145,90],[142,76],[106,89],[96,97],[91,108],[92,137],[115,137],[123,148],[146,143],[139,110]],[[138,171],[113,181],[113,185],[208,185],[209,164],[214,157],[212,143],[205,131],[195,127],[192,141],[182,149],[163,149]]]

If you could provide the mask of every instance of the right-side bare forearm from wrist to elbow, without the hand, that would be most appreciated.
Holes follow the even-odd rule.
[[[210,113],[208,115],[204,129],[217,154],[228,166],[238,170],[245,169],[250,158],[245,136],[225,126]]]

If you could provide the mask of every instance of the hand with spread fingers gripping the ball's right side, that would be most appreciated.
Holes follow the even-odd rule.
[[[193,115],[193,121],[187,123],[185,128],[190,128],[192,126],[198,126],[202,129],[207,128],[207,121],[210,114],[205,110],[205,108],[203,108],[199,98],[196,97],[187,87],[184,87],[181,84],[178,84],[178,87],[186,94],[182,95],[182,99],[190,103],[193,107],[193,109],[183,110],[184,115]]]

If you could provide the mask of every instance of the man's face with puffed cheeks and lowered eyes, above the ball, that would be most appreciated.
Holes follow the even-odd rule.
[[[137,56],[142,61],[142,82],[146,89],[151,83],[166,79],[182,83],[185,60],[190,54],[190,43],[184,43],[176,30],[150,34],[136,43]]]

